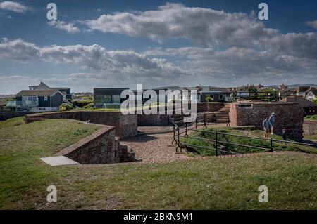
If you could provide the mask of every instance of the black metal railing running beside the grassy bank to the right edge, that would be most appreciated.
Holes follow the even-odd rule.
[[[205,114],[204,114],[204,118],[203,118],[203,126],[206,128],[206,119],[205,119]],[[201,125],[201,124],[200,124]],[[189,127],[194,126],[194,128],[190,129]],[[218,156],[219,154],[239,154],[237,152],[230,152],[228,150],[222,150],[221,148],[219,149],[219,146],[221,146],[221,144],[223,145],[232,145],[232,146],[237,146],[237,147],[247,147],[247,148],[251,148],[251,149],[255,149],[255,150],[263,150],[264,152],[273,152],[274,150],[274,144],[273,143],[284,143],[284,144],[292,144],[292,145],[306,145],[306,146],[311,146],[311,147],[316,147],[316,144],[311,144],[311,143],[299,143],[299,142],[295,142],[295,141],[289,141],[289,140],[278,140],[278,139],[273,139],[273,138],[260,138],[260,137],[253,137],[253,136],[242,136],[242,135],[235,135],[232,133],[222,133],[222,132],[218,132],[218,131],[206,131],[206,130],[199,130],[198,129],[199,126],[199,119],[197,117],[197,119],[192,122],[192,123],[185,123],[183,125],[180,125],[179,123],[173,123],[173,142],[172,144],[176,144],[176,153],[178,152],[178,150],[180,150],[180,152],[182,152],[183,148],[187,148],[187,147],[198,147],[198,148],[202,148],[205,150],[213,150],[215,151],[216,156]],[[199,133],[211,133],[214,135],[214,139],[211,138],[201,138],[201,137],[197,137],[197,136],[189,136],[188,135],[188,131],[196,131]],[[269,143],[268,147],[259,147],[259,146],[255,146],[255,145],[244,145],[244,144],[238,144],[238,143],[232,143],[232,142],[224,142],[222,140],[220,140],[219,136],[235,136],[238,138],[244,138],[244,139],[256,139],[256,140],[263,140]],[[182,142],[181,138],[184,139],[195,139],[195,140],[201,140],[201,141],[205,141],[205,142],[209,142],[209,143],[213,143],[214,147],[206,147],[206,146],[201,146],[201,145],[190,145],[188,143]]]

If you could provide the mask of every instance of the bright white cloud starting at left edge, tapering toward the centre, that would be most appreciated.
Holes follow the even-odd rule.
[[[148,58],[135,51],[107,51],[93,44],[68,46],[44,46],[23,41],[23,39],[3,39],[0,43],[0,59],[6,60],[44,60],[56,64],[75,64],[82,68],[112,72],[113,74],[133,74],[142,76],[171,76],[187,74],[180,67],[160,58]]]

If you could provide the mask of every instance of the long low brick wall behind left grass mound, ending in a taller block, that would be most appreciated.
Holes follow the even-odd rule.
[[[26,115],[28,123],[37,121],[37,119],[75,119],[90,121],[90,123],[94,124],[114,126],[116,136],[120,136],[120,138],[127,138],[137,134],[137,115],[123,115],[121,112],[70,111]]]

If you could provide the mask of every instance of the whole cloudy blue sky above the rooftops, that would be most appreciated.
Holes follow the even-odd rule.
[[[0,94],[317,84],[316,31],[314,0],[0,0]]]

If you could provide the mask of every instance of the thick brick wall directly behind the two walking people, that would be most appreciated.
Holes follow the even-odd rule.
[[[303,138],[304,112],[298,103],[231,103],[230,121],[236,126],[255,126],[263,129],[263,120],[275,112],[275,133],[282,134],[287,130],[287,136],[296,140]]]

